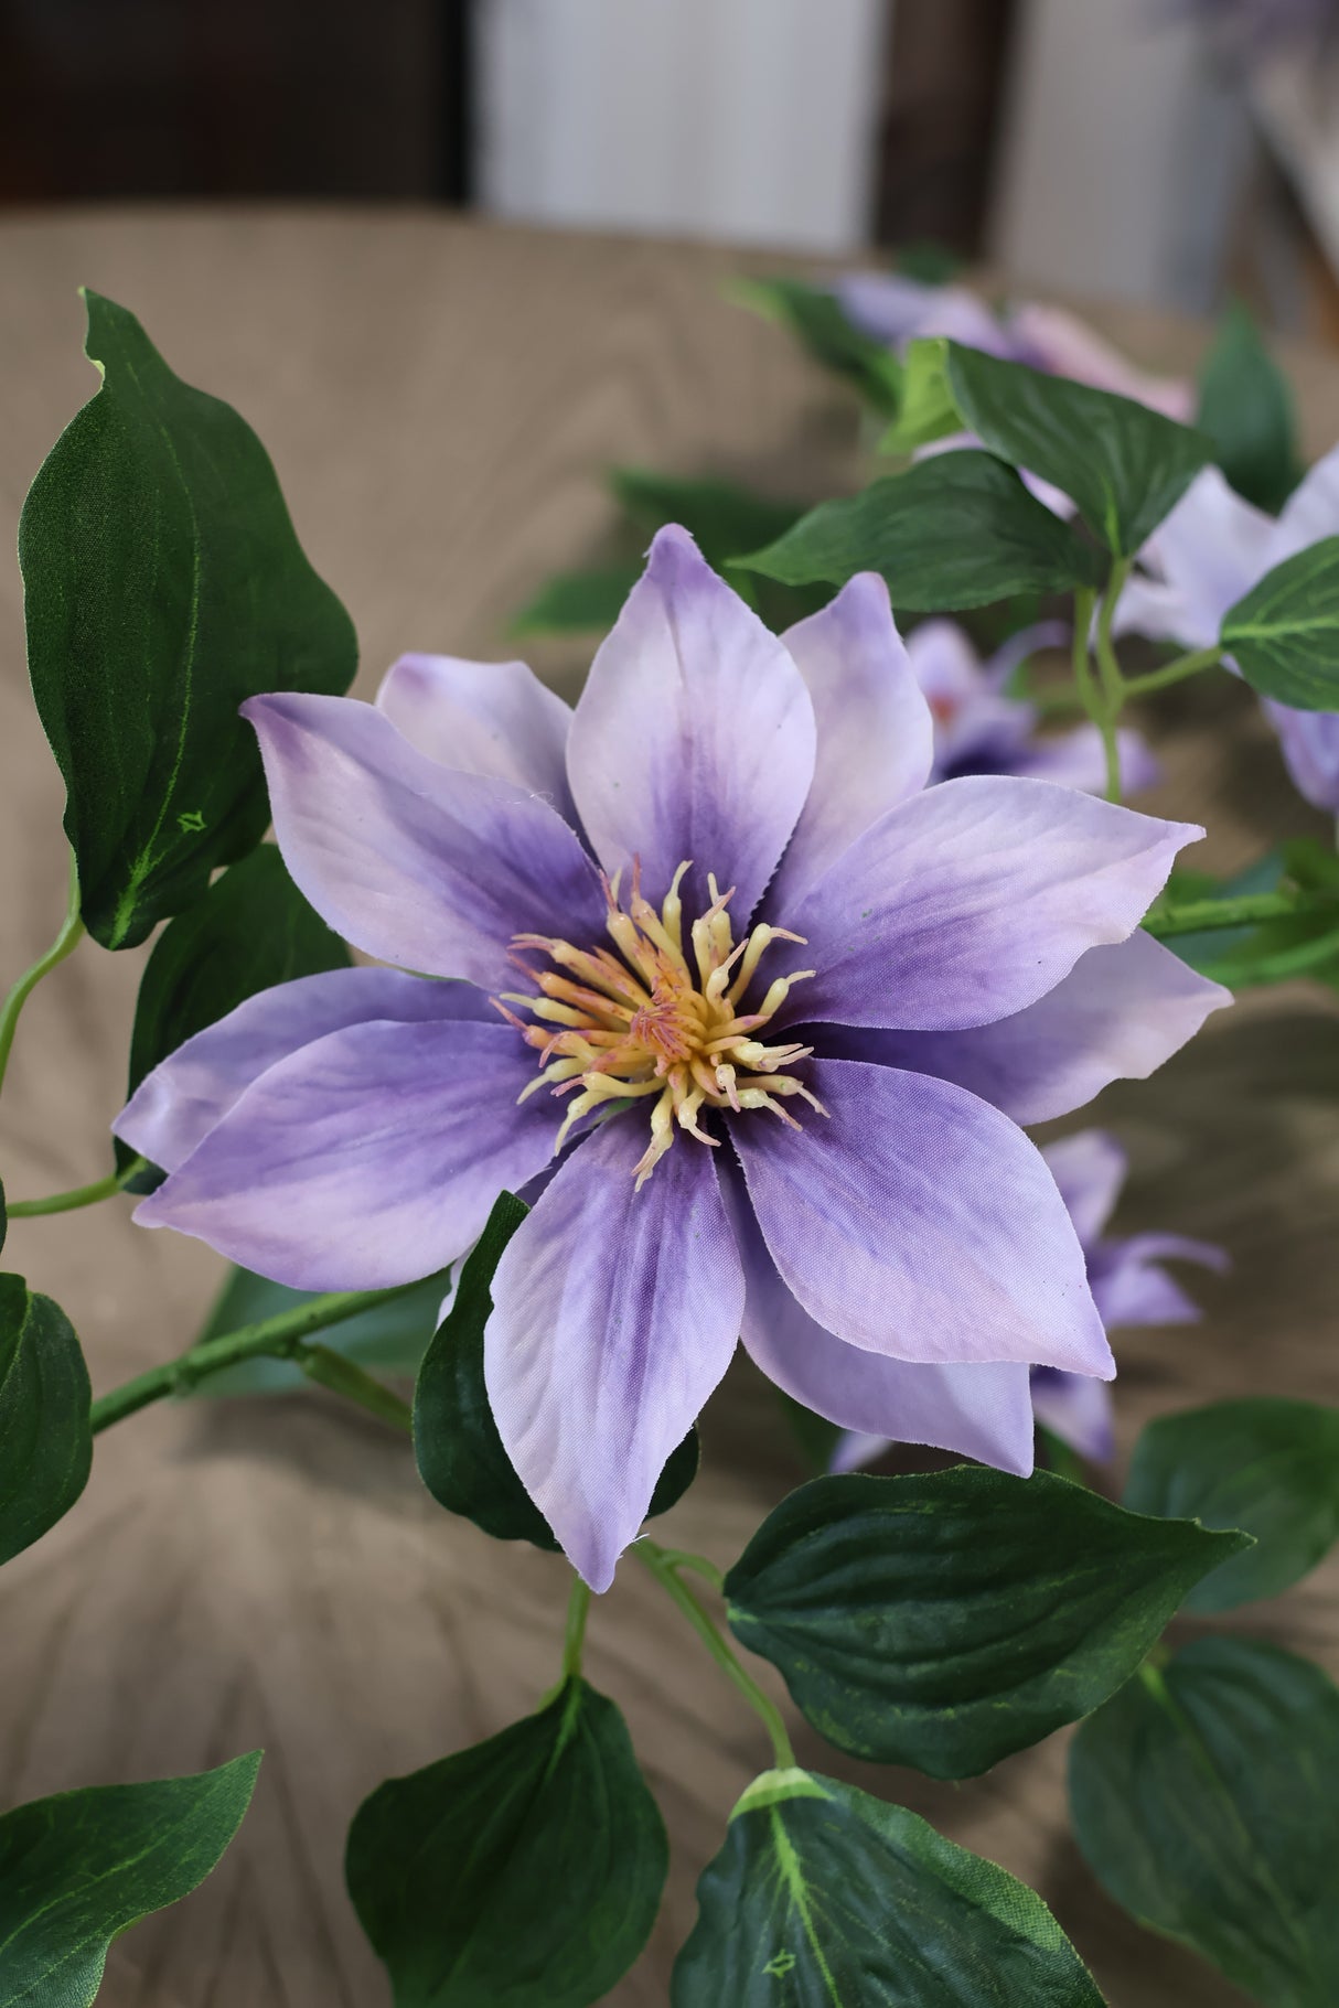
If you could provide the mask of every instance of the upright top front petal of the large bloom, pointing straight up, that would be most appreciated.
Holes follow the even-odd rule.
[[[813,779],[813,705],[785,647],[675,526],[602,645],[568,739],[568,779],[606,871],[642,861],[652,904],[693,859],[735,886],[735,932],[799,819]]]

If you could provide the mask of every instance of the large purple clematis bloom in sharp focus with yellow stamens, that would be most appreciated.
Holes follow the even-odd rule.
[[[841,1426],[1030,1468],[1028,1369],[1112,1361],[1018,1124],[1229,1000],[1138,932],[1198,829],[927,789],[881,580],[777,641],[679,528],[574,713],[444,657],[375,707],[243,709],[293,877],[399,968],[265,992],[165,1060],[116,1122],[169,1173],[139,1221],[365,1289],[534,1199],[488,1396],[596,1588],[741,1331]]]

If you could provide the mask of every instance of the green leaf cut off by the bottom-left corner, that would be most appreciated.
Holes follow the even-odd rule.
[[[106,1948],[191,1896],[237,1833],[261,1753],[199,1777],[90,1785],[0,1817],[0,2008],[88,2008]]]

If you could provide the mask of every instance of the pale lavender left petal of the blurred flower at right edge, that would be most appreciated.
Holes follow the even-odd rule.
[[[1273,538],[1273,516],[1243,502],[1219,468],[1204,468],[1144,546],[1152,578],[1124,588],[1116,633],[1211,649],[1223,614],[1275,562]]]

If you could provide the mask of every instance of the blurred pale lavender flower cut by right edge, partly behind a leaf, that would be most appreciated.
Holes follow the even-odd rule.
[[[1219,468],[1204,468],[1140,552],[1116,606],[1118,633],[1211,649],[1223,614],[1293,552],[1339,536],[1339,446],[1311,468],[1281,516],[1243,502]],[[1299,795],[1339,813],[1339,713],[1261,699]]]

